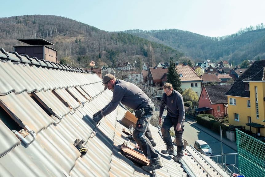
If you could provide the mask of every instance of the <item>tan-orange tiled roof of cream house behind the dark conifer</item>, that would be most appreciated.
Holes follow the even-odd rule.
[[[176,70],[183,77],[180,77],[181,81],[202,81],[203,79],[196,74],[196,72],[187,64],[179,64],[176,66]]]

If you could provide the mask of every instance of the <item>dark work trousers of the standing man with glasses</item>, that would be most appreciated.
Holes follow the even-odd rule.
[[[183,156],[184,145],[182,141],[182,134],[184,132],[184,124],[181,123],[180,131],[176,130],[177,124],[178,124],[178,118],[173,118],[167,115],[164,119],[163,125],[161,127],[161,131],[162,131],[164,142],[166,143],[167,149],[168,149],[169,147],[174,147],[171,136],[169,134],[170,128],[172,126],[174,127],[175,135],[176,135],[176,144],[177,144],[177,155]]]

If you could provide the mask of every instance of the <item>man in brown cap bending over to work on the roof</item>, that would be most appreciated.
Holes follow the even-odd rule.
[[[103,116],[114,111],[120,102],[135,110],[135,116],[138,120],[133,131],[133,139],[141,147],[144,155],[150,159],[149,166],[143,166],[142,169],[152,171],[162,168],[160,158],[153,148],[156,143],[148,127],[155,111],[151,99],[133,83],[116,79],[112,74],[106,74],[103,77],[103,84],[104,90],[113,89],[113,98],[107,106],[93,115],[93,120],[98,123]]]

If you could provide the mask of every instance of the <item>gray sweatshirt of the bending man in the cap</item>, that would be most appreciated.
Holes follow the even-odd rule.
[[[151,99],[139,87],[133,83],[117,79],[113,89],[112,100],[102,109],[102,114],[104,116],[108,115],[116,109],[120,102],[133,110],[152,104]]]

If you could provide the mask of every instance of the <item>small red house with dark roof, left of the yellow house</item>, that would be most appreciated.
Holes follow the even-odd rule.
[[[214,74],[206,74],[214,75]],[[231,88],[230,85],[204,85],[199,98],[199,108],[195,111],[212,114],[214,117],[227,115],[227,96],[225,93]]]

